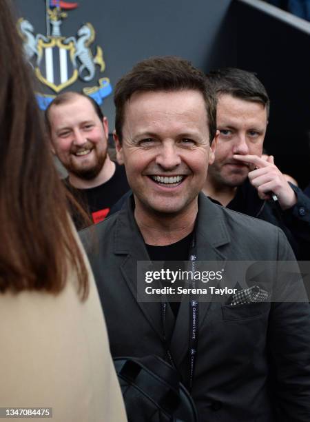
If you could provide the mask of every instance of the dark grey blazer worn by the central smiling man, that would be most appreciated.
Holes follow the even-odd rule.
[[[92,232],[94,230],[94,232]],[[103,305],[112,356],[156,354],[167,359],[160,303],[136,301],[136,263],[149,257],[134,203],[81,232]],[[200,261],[291,260],[276,226],[198,197]],[[256,283],[282,301],[304,294],[294,279],[280,290],[276,274]],[[305,299],[306,300],[306,299]],[[304,303],[199,303],[198,352],[192,396],[201,422],[310,421],[310,312]],[[176,368],[189,375],[189,303],[177,319],[167,308],[165,330]]]

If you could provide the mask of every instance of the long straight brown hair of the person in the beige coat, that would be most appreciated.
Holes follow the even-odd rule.
[[[0,0],[0,291],[60,292],[87,269],[54,168],[8,0]]]

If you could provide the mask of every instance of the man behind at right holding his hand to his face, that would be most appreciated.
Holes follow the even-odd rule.
[[[225,68],[207,74],[217,98],[220,132],[203,192],[225,207],[280,227],[297,259],[310,259],[310,200],[288,183],[273,157],[263,159],[269,97],[253,73]]]

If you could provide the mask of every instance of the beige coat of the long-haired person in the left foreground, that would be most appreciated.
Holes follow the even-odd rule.
[[[53,408],[28,421],[125,422],[94,278],[85,302],[75,282],[56,296],[0,294],[0,407]]]

